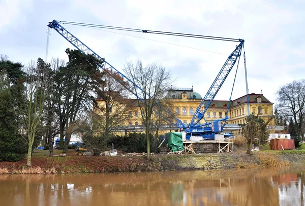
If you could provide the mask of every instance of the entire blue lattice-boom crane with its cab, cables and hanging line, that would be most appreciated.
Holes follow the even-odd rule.
[[[174,125],[184,130],[187,133],[187,136],[193,135],[200,135],[203,136],[204,139],[214,139],[215,133],[221,133],[223,131],[223,127],[225,126],[226,120],[229,118],[228,116],[217,119],[211,122],[207,122],[204,118],[204,114],[212,101],[214,100],[215,96],[217,95],[218,91],[220,90],[221,86],[223,85],[224,81],[226,80],[227,76],[229,75],[230,71],[234,67],[235,63],[237,62],[237,68],[239,64],[239,59],[241,56],[241,50],[243,49],[243,58],[244,58],[244,64],[245,64],[245,75],[246,75],[246,90],[247,90],[247,105],[248,105],[248,115],[249,115],[249,96],[248,96],[248,82],[247,82],[247,68],[246,68],[246,54],[245,54],[245,48],[244,48],[244,42],[243,39],[236,39],[236,38],[224,38],[224,37],[215,37],[215,36],[204,36],[204,35],[195,35],[195,34],[185,34],[185,33],[174,33],[174,32],[164,32],[164,31],[153,31],[153,30],[141,30],[141,29],[132,29],[132,28],[125,28],[125,27],[112,27],[112,26],[103,26],[103,25],[96,25],[96,24],[84,24],[84,23],[76,23],[76,22],[67,22],[67,21],[56,21],[53,20],[49,22],[48,27],[54,29],[57,31],[60,35],[62,35],[68,42],[70,42],[74,47],[76,47],[78,50],[80,50],[82,53],[85,54],[92,54],[96,58],[103,60],[105,63],[103,65],[103,70],[111,70],[115,71],[117,75],[120,76],[120,79],[118,79],[117,75],[112,75],[113,78],[115,78],[117,81],[121,82],[121,79],[124,81],[128,81],[131,84],[133,84],[137,89],[144,91],[131,79],[129,79],[126,75],[119,72],[117,69],[115,69],[112,65],[110,65],[107,61],[105,61],[104,58],[99,56],[97,53],[95,53],[93,50],[91,50],[89,47],[87,47],[84,43],[81,42],[76,36],[74,36],[72,33],[70,33],[66,28],[64,28],[62,25],[60,25],[58,22],[62,24],[70,24],[70,25],[78,25],[78,26],[86,26],[86,27],[97,27],[97,28],[106,28],[106,29],[116,29],[116,30],[124,30],[124,31],[133,31],[133,32],[143,32],[143,33],[153,33],[153,34],[163,34],[163,35],[175,35],[175,36],[185,36],[185,37],[193,37],[193,38],[206,38],[206,39],[214,39],[214,40],[225,40],[229,42],[238,42],[239,44],[236,46],[235,50],[229,55],[226,62],[224,63],[223,67],[221,68],[220,72],[218,73],[217,77],[215,78],[214,82],[210,86],[208,92],[202,99],[201,103],[199,104],[198,108],[196,109],[194,116],[192,118],[192,121],[189,125],[183,123],[180,119],[177,117],[174,117],[176,122]],[[236,73],[237,73],[236,68]],[[235,78],[236,78],[235,73]],[[234,83],[235,83],[234,78]],[[234,88],[233,83],[233,88]],[[233,92],[232,88],[232,92]],[[128,89],[128,88],[127,88]],[[134,91],[129,91],[134,94],[139,100],[144,102],[144,97],[140,96],[139,94],[136,94]],[[231,97],[232,97],[231,92]],[[146,94],[148,95],[148,94]],[[231,97],[229,104],[231,102]],[[203,110],[201,107],[203,107]],[[230,105],[228,105],[227,113],[230,108]],[[204,120],[204,123],[200,123],[200,120]]]

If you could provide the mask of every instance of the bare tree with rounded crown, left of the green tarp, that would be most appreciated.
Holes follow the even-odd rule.
[[[172,83],[171,74],[157,63],[143,66],[139,60],[135,64],[127,62],[124,71],[136,84],[131,85],[134,93],[143,100],[142,102],[138,98],[137,103],[145,126],[147,159],[150,159],[149,137],[151,136],[151,128],[153,127],[153,112],[159,105],[158,100],[164,98]]]

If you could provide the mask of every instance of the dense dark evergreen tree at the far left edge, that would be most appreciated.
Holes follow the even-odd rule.
[[[19,120],[15,110],[16,98],[21,98],[22,77],[20,63],[7,57],[0,59],[0,161],[18,161],[26,153],[26,142],[19,134]]]

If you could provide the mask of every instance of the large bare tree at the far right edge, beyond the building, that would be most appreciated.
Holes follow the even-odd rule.
[[[293,118],[297,135],[302,137],[305,113],[305,79],[294,80],[292,83],[280,87],[276,95],[279,102],[278,110],[283,115]]]

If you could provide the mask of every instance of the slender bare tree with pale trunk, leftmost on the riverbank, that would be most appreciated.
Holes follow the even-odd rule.
[[[26,73],[25,90],[23,93],[24,101],[19,102],[18,112],[27,136],[25,138],[28,143],[26,165],[31,166],[32,147],[40,129],[45,100],[50,85],[50,65],[39,58],[37,65],[32,61],[24,68],[24,72]]]

